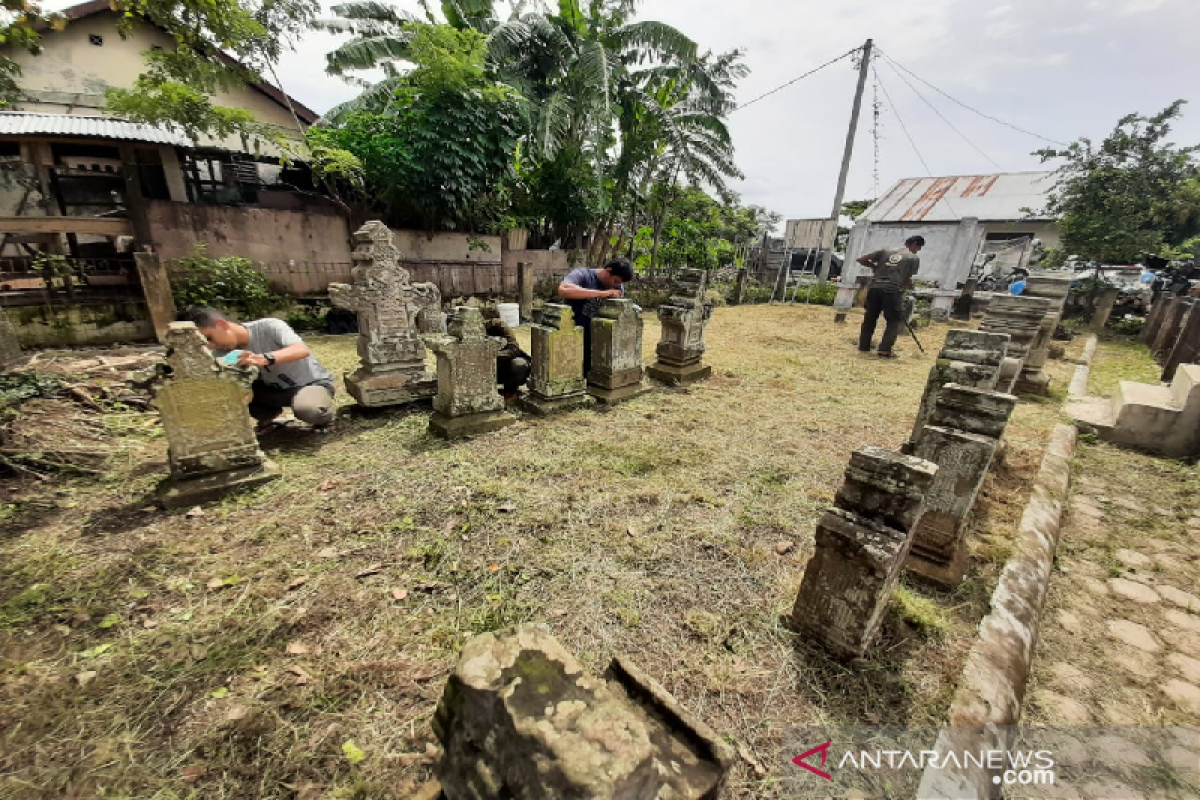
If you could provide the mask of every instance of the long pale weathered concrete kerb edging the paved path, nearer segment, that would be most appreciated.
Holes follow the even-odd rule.
[[[1050,437],[1015,551],[991,596],[991,613],[979,624],[937,751],[1006,750],[1004,728],[1020,721],[1070,487],[1075,437],[1069,425],[1055,427]],[[980,729],[986,732],[985,741],[979,741]],[[917,796],[998,798],[994,777],[970,762],[962,769],[930,769],[922,776]]]

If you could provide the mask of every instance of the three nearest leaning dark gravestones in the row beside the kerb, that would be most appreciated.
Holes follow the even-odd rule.
[[[1015,396],[997,391],[1022,368],[1024,357],[1010,363],[1010,345],[1008,333],[950,331],[901,451],[851,456],[833,507],[817,522],[791,615],[796,630],[858,658],[902,573],[946,589],[961,584],[971,512],[1016,407]],[[1027,347],[1018,353],[1026,356]]]

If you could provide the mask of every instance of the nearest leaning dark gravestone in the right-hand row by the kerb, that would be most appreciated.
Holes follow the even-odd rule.
[[[880,447],[851,456],[833,509],[817,522],[816,552],[804,570],[792,626],[839,657],[862,657],[920,522],[937,467]]]

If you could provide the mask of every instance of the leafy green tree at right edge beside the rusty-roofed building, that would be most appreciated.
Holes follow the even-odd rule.
[[[1168,142],[1182,108],[1176,101],[1153,116],[1129,114],[1099,145],[1081,138],[1036,154],[1063,162],[1045,209],[1060,217],[1060,257],[1130,264],[1200,231],[1200,148]]]

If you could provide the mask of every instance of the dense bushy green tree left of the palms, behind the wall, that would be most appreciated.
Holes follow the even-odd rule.
[[[353,154],[362,163],[362,199],[396,225],[486,228],[504,210],[522,130],[520,98],[484,74],[484,36],[449,25],[419,25],[412,58],[386,113],[360,110],[337,127],[308,132],[312,148]]]

